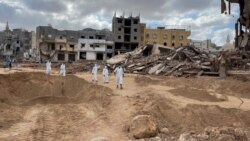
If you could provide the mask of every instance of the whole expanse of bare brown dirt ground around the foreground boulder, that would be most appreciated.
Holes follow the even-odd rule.
[[[43,70],[0,70],[0,140],[134,140],[128,125],[136,115],[155,117],[162,140],[186,131],[240,127],[250,137],[250,81],[211,77],[125,75],[124,89],[91,82],[89,73],[60,77]]]

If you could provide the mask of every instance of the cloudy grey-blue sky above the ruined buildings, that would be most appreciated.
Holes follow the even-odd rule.
[[[220,14],[220,0],[0,0],[0,30],[9,21],[11,28],[35,30],[51,24],[58,29],[86,27],[111,29],[114,12],[120,16],[141,15],[149,28],[190,27],[191,39],[212,39],[222,45],[234,37],[238,5],[232,15]]]

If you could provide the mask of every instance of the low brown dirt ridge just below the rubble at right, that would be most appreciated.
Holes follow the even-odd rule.
[[[135,78],[135,82],[139,86],[151,85],[164,85],[173,88],[196,88],[204,90],[214,90],[219,94],[239,96],[242,98],[250,99],[250,81],[245,81],[228,77],[226,79],[212,78],[212,77],[200,77],[200,78],[177,78],[161,76],[152,79],[147,76],[139,76]]]

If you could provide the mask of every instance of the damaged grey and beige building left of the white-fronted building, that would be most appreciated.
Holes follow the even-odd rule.
[[[78,32],[57,30],[52,26],[36,28],[41,61],[75,61]]]

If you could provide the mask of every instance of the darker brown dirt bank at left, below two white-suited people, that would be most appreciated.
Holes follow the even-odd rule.
[[[0,75],[0,102],[13,105],[64,104],[105,97],[110,89],[75,76],[45,76],[43,73]],[[93,89],[94,88],[94,89]],[[101,90],[103,95],[96,95]]]

